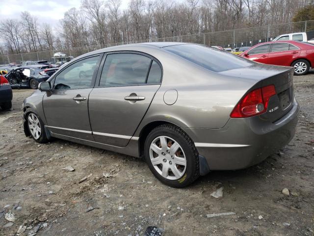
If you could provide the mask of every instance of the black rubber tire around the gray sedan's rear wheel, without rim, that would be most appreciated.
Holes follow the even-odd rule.
[[[151,162],[150,146],[151,146],[151,143],[158,136],[168,136],[169,138],[174,139],[182,147],[183,152],[185,153],[185,158],[186,158],[185,173],[183,174],[181,178],[177,180],[169,180],[159,175]],[[185,132],[183,132],[182,129],[178,128],[177,126],[174,126],[171,124],[162,124],[160,126],[157,126],[155,129],[153,129],[148,134],[145,140],[144,154],[145,154],[145,160],[150,170],[155,175],[155,177],[157,177],[157,179],[159,179],[162,183],[168,186],[175,187],[175,188],[182,188],[191,184],[200,176],[198,151],[196,150],[194,143],[190,139],[190,137]]]

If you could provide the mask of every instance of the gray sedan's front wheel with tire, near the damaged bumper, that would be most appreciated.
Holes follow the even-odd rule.
[[[44,123],[37,114],[30,112],[26,114],[27,128],[32,138],[38,143],[47,143],[48,138],[45,132]]]

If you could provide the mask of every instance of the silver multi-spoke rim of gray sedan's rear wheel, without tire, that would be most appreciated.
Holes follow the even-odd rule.
[[[169,180],[181,178],[186,170],[183,148],[173,138],[158,136],[149,150],[150,160],[157,173]]]

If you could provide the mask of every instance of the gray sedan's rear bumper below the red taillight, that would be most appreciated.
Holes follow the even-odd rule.
[[[210,170],[243,169],[286,146],[294,136],[299,105],[272,123],[260,116],[231,118],[221,129],[183,128],[190,135]]]

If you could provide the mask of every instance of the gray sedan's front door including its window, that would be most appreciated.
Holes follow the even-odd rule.
[[[88,116],[91,92],[101,55],[70,64],[54,76],[43,98],[47,127],[55,134],[93,140]]]

